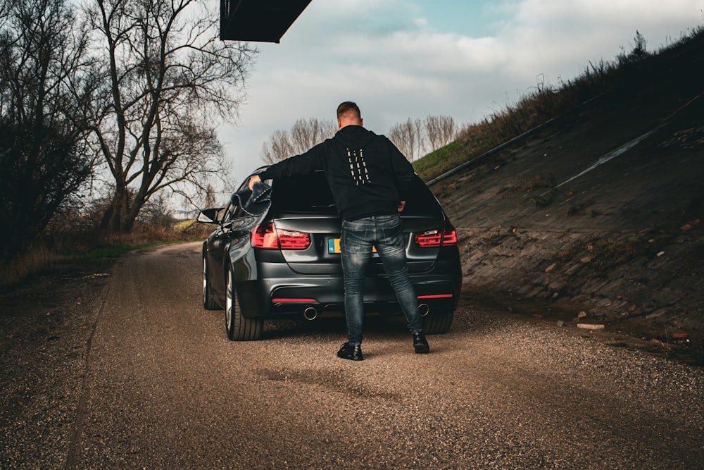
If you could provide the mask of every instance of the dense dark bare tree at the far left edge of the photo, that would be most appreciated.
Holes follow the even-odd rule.
[[[92,173],[82,109],[86,35],[65,0],[0,1],[0,236],[8,258]]]

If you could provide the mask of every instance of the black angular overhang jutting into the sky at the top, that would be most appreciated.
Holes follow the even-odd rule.
[[[311,0],[220,0],[220,39],[279,42]]]

